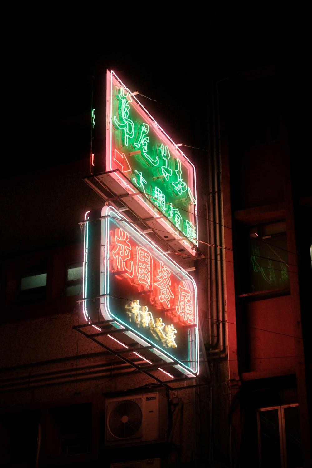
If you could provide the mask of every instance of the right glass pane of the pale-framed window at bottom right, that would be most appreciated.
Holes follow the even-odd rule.
[[[285,421],[285,439],[287,467],[302,467],[301,439],[298,406],[283,408]]]

